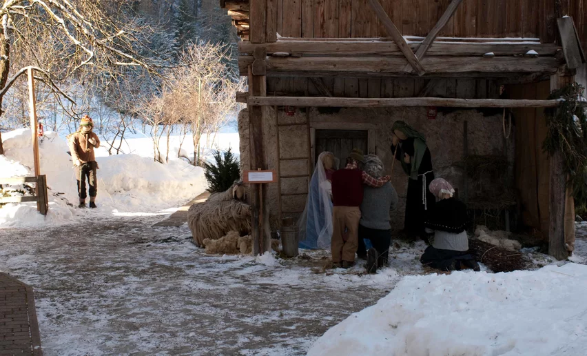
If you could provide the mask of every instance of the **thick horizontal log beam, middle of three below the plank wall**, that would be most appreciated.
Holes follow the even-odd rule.
[[[246,75],[247,67],[253,57],[238,57],[241,75]],[[292,75],[315,72],[328,77],[329,72],[338,72],[350,77],[349,73],[372,73],[375,75],[406,75],[402,72],[407,61],[401,57],[268,57],[267,75]],[[554,57],[425,57],[426,75],[440,73],[459,73],[466,77],[468,72],[491,72],[497,77],[507,77],[508,73],[550,72],[559,68],[559,60]]]

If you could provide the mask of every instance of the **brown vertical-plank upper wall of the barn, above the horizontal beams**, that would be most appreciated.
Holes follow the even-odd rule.
[[[282,37],[387,37],[367,0],[274,0]],[[404,35],[426,36],[450,0],[380,0]],[[560,5],[558,6],[557,3]],[[464,0],[441,37],[539,37],[555,41],[556,17],[575,19],[587,41],[587,0]],[[254,21],[254,20],[252,20]]]

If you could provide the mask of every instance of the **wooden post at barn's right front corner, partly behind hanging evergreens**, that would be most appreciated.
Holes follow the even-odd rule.
[[[550,77],[550,91],[562,88],[575,81],[573,76],[553,75]],[[550,164],[550,223],[548,228],[548,255],[556,259],[567,259],[564,236],[564,215],[566,203],[566,172],[564,157],[555,152],[549,157]]]

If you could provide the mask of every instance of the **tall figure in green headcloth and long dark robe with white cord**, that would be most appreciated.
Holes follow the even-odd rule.
[[[409,177],[404,233],[411,239],[419,236],[426,241],[424,221],[428,210],[436,202],[436,197],[429,190],[434,179],[430,150],[424,135],[404,121],[395,121],[392,130],[391,152],[395,153],[395,159],[400,161]]]

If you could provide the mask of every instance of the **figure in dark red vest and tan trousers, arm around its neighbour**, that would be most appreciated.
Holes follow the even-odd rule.
[[[332,175],[332,262],[335,267],[349,268],[355,262],[358,248],[358,228],[361,219],[363,184],[379,188],[391,177],[375,179],[359,169],[364,162],[360,150],[354,149],[347,159],[347,166]]]

